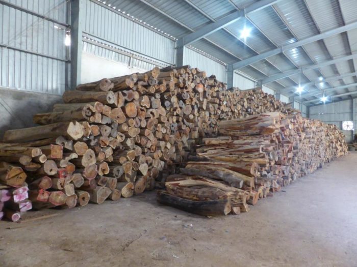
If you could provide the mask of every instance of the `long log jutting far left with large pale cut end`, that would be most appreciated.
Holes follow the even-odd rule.
[[[83,136],[82,125],[78,122],[55,123],[24,129],[8,130],[5,132],[3,140],[6,142],[18,140],[30,141],[49,137],[58,137],[59,135],[73,140],[78,140]]]

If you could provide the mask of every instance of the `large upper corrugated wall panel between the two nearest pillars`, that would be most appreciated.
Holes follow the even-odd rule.
[[[102,7],[84,1],[83,31],[126,49],[174,64],[174,41]]]

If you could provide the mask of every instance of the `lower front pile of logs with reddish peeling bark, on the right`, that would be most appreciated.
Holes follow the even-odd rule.
[[[347,154],[335,125],[300,114],[262,113],[218,126],[221,136],[204,138],[181,174],[167,177],[159,202],[206,216],[247,212],[247,203]]]

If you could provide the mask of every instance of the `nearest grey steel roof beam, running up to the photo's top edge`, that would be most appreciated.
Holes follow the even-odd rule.
[[[217,20],[216,22],[213,22],[206,26],[203,26],[202,28],[198,29],[194,33],[188,34],[188,35],[180,38],[177,43],[182,46],[189,45],[199,39],[202,39],[216,31],[218,31],[219,29],[225,27],[226,25],[229,25],[229,24],[237,21],[238,19],[244,17],[246,14],[256,12],[256,11],[259,11],[266,7],[269,7],[271,5],[274,5],[278,1],[281,1],[281,0],[261,0],[259,2],[255,2],[241,11],[233,12],[232,14],[227,15],[227,16]]]

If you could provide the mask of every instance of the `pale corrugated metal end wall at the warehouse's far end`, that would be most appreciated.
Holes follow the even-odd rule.
[[[342,130],[343,121],[352,121],[352,100],[345,100],[335,103],[310,107],[310,118],[320,120],[327,124],[335,124]],[[353,131],[343,131],[346,135],[346,141],[350,142],[353,137]]]

